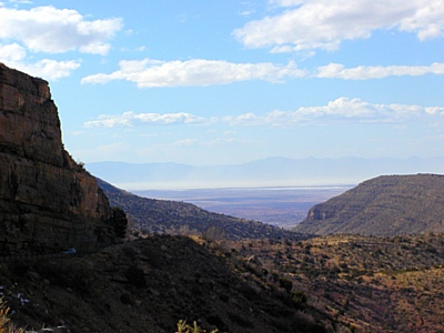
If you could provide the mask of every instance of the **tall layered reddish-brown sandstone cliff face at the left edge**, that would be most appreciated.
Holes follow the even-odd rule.
[[[0,63],[0,254],[112,241],[97,181],[63,149],[48,82]]]

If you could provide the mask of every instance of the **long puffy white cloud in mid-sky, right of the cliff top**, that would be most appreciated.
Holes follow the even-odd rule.
[[[293,62],[286,65],[262,63],[232,63],[223,60],[194,59],[186,61],[121,61],[120,70],[99,73],[82,79],[82,83],[107,83],[112,80],[128,80],[140,88],[189,87],[226,84],[249,80],[280,82],[284,78],[301,78],[305,73]]]

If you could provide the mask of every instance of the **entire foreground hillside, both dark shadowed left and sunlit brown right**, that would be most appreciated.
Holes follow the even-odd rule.
[[[82,258],[0,264],[28,327],[175,332],[442,332],[444,234],[221,243],[150,236]],[[324,329],[323,329],[324,327]]]

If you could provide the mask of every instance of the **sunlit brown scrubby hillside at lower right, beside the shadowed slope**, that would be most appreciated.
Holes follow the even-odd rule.
[[[245,279],[290,281],[300,299],[342,323],[335,332],[443,332],[444,234],[234,246],[250,264]]]

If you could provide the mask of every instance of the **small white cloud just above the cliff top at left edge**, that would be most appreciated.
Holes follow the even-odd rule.
[[[69,77],[71,72],[80,67],[80,61],[56,61],[51,59],[42,59],[33,63],[24,61],[27,51],[23,47],[12,44],[0,44],[0,61],[8,67],[27,72],[34,77],[40,77],[47,80],[58,80]]]

